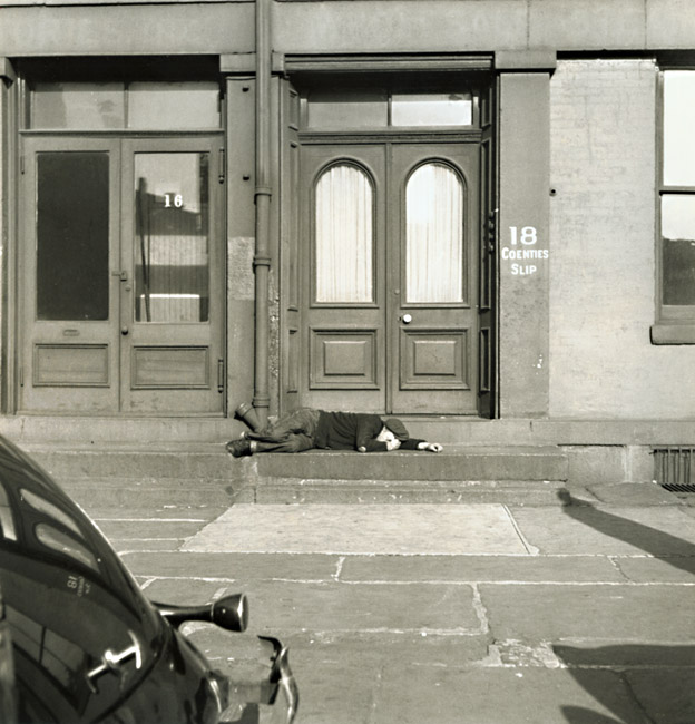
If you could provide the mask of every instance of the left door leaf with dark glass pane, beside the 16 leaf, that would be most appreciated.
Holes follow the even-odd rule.
[[[118,141],[25,141],[20,409],[118,405]]]

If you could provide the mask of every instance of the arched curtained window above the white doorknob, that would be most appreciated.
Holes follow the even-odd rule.
[[[464,194],[442,163],[420,166],[405,189],[405,301],[464,301]]]

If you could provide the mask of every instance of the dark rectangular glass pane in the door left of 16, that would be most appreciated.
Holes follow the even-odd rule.
[[[107,320],[109,159],[37,157],[37,319]]]

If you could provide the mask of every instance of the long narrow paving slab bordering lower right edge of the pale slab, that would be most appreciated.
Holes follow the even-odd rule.
[[[348,556],[340,580],[625,581],[606,556]]]

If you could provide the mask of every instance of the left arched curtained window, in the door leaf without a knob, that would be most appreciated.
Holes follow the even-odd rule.
[[[373,301],[373,205],[369,176],[353,164],[325,169],[315,194],[315,299]]]

